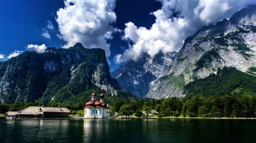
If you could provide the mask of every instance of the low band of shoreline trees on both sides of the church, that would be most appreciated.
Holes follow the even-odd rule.
[[[139,99],[131,98],[128,100],[115,99],[109,96],[106,103],[111,100],[111,112],[118,112],[119,115],[129,117],[147,117],[155,114],[158,117],[256,117],[256,97],[255,96],[193,96],[191,98],[171,97],[167,99]],[[47,106],[47,107],[67,107],[71,114],[83,115],[85,102],[75,104],[56,103],[56,102],[16,102],[13,104],[0,104],[1,113],[7,111],[20,111],[28,106]],[[152,112],[152,110],[158,112]]]

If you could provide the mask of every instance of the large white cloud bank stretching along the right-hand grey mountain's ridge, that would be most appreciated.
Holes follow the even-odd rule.
[[[142,53],[154,57],[159,51],[166,53],[179,50],[185,38],[192,36],[204,25],[228,19],[246,5],[256,3],[251,0],[158,1],[162,3],[162,8],[151,13],[156,20],[150,29],[137,27],[132,21],[125,24],[123,38],[133,41],[134,44],[114,59],[125,62],[139,57]]]

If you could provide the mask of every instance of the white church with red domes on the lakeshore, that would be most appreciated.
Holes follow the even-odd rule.
[[[104,94],[100,94],[100,101],[96,101],[96,93],[92,94],[92,101],[85,103],[84,118],[109,118],[109,107],[104,103]]]

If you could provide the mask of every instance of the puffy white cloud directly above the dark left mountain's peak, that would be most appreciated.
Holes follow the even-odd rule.
[[[100,47],[110,56],[110,44],[114,27],[110,24],[117,19],[115,0],[65,0],[65,7],[57,11],[56,21],[64,47],[81,42],[86,48]]]

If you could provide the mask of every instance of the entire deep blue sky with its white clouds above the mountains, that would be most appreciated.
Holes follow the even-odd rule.
[[[201,27],[251,0],[9,0],[0,5],[0,60],[26,50],[101,47],[110,70],[143,53],[179,50]],[[217,11],[216,11],[217,10]]]

